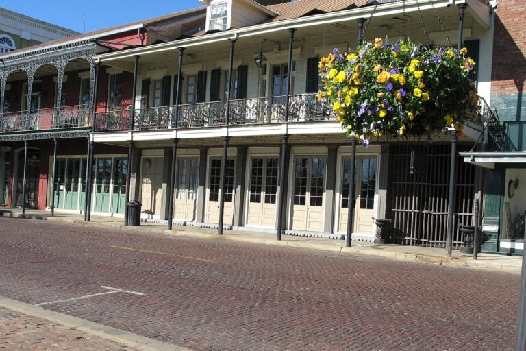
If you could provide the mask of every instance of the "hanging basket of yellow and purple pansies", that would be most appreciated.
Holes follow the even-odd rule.
[[[460,131],[476,117],[477,107],[469,78],[475,62],[466,53],[388,38],[356,51],[334,49],[320,60],[318,99],[327,101],[346,134],[365,146],[384,134],[432,138],[447,128]]]

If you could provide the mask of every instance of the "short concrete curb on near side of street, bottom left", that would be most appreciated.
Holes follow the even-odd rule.
[[[25,315],[30,315],[32,317],[42,318],[49,322],[79,330],[86,334],[94,335],[95,337],[122,343],[125,346],[137,348],[138,350],[191,351],[190,349],[181,348],[171,343],[142,337],[141,335],[133,334],[132,332],[125,332],[124,330],[113,328],[111,326],[104,326],[103,324],[47,310],[39,306],[33,306],[10,298],[4,298],[3,296],[0,296],[0,307],[9,308],[10,310],[24,313]]]

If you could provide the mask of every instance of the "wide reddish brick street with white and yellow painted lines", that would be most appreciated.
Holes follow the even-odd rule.
[[[519,283],[517,274],[0,218],[0,295],[192,350],[514,350]]]

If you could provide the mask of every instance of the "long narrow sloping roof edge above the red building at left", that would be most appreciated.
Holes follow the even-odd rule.
[[[90,39],[95,39],[95,38],[103,38],[106,35],[115,34],[115,33],[118,33],[119,31],[124,31],[124,30],[128,29],[129,27],[134,27],[134,26],[139,26],[139,25],[145,25],[145,26],[154,25],[155,23],[160,23],[160,22],[166,21],[168,19],[173,19],[173,18],[183,17],[183,16],[189,16],[189,15],[192,15],[192,14],[199,14],[200,12],[206,12],[206,7],[205,6],[201,6],[199,8],[193,8],[193,9],[190,9],[190,10],[174,12],[172,14],[165,14],[163,16],[153,17],[151,19],[146,19],[144,21],[136,21],[136,22],[132,22],[132,23],[127,23],[125,25],[118,25],[116,27],[100,29],[100,30],[96,30],[96,31],[92,31],[92,32],[84,33],[84,34],[78,34],[76,36],[69,36],[68,38],[62,38],[62,39],[58,39],[58,40],[53,40],[53,41],[50,41],[50,42],[47,42],[47,43],[33,45],[32,47],[26,47],[26,48],[23,48],[23,49],[17,49],[17,50],[9,51],[8,53],[4,53],[4,54],[0,55],[0,57],[11,56],[13,54],[16,55],[18,53],[23,53],[25,51],[35,51],[35,50],[42,49],[42,48],[45,48],[45,47],[59,46],[59,45],[62,45],[64,43],[82,42],[84,40],[90,40]]]

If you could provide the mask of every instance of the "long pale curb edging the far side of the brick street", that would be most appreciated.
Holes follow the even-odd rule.
[[[429,254],[418,254],[414,252],[395,252],[390,250],[375,250],[368,247],[345,247],[345,246],[327,246],[320,245],[317,243],[303,243],[301,241],[277,241],[271,239],[260,239],[260,238],[249,238],[238,235],[218,235],[210,232],[197,232],[194,230],[168,230],[164,228],[149,228],[147,226],[125,226],[121,223],[112,222],[86,222],[78,221],[77,219],[68,219],[64,217],[49,217],[42,215],[21,215],[19,213],[4,213],[4,217],[11,218],[25,218],[25,219],[42,219],[49,221],[58,221],[61,223],[73,223],[77,226],[86,227],[99,227],[99,228],[112,228],[122,230],[134,230],[137,232],[151,232],[157,234],[164,234],[171,237],[190,237],[197,239],[216,239],[216,240],[227,240],[237,241],[242,243],[253,243],[260,245],[274,245],[281,247],[290,247],[296,249],[310,249],[310,250],[321,250],[326,252],[341,252],[345,254],[358,254],[361,256],[373,256],[379,258],[395,259],[398,261],[405,262],[418,262],[418,263],[432,263],[436,265],[444,265],[448,267],[460,267],[460,268],[472,268],[481,269],[486,271],[501,271],[511,274],[521,274],[521,267],[514,265],[505,265],[503,263],[491,263],[488,261],[475,261],[470,258],[456,258],[456,257],[443,257],[433,256]]]

